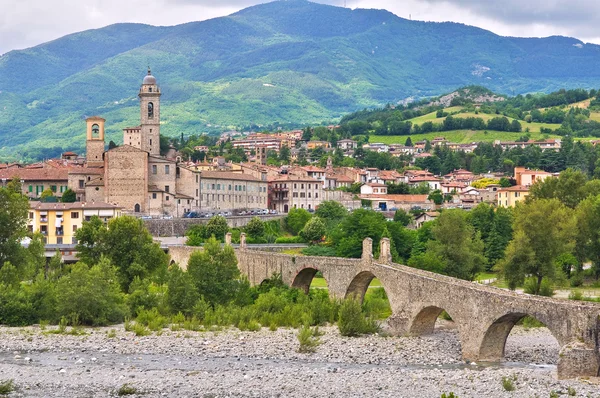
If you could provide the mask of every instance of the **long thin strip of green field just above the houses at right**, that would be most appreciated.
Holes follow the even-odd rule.
[[[369,142],[382,142],[384,144],[404,144],[406,139],[410,137],[413,143],[421,140],[432,140],[436,137],[445,137],[448,141],[458,144],[468,144],[471,142],[494,142],[500,141],[515,141],[522,137],[525,133],[509,133],[506,131],[489,130],[487,134],[484,131],[473,130],[454,130],[454,131],[438,131],[427,134],[411,134],[411,135],[372,135],[369,137]],[[545,135],[541,133],[530,133],[532,140],[543,140],[544,138],[560,138],[558,135]],[[591,138],[590,138],[591,139]]]

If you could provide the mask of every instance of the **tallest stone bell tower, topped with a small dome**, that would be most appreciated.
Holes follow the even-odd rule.
[[[140,88],[141,149],[160,156],[160,89],[150,68]]]

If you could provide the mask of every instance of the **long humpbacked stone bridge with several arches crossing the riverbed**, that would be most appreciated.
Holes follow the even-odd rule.
[[[185,268],[194,250],[198,249],[171,248],[171,258]],[[267,253],[250,250],[243,235],[236,249],[238,267],[253,285],[278,274],[286,284],[308,291],[321,271],[330,296],[362,301],[373,278],[378,278],[392,308],[388,326],[396,335],[432,333],[445,310],[458,329],[468,361],[501,361],[511,329],[530,315],[543,322],[560,345],[559,378],[599,375],[599,304],[518,294],[394,264],[386,238],[380,252],[374,259],[367,238],[360,259]]]

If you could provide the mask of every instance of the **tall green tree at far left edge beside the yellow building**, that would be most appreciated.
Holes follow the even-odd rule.
[[[16,179],[0,188],[0,266],[6,261],[18,265],[23,255],[21,240],[27,234],[29,202],[20,185]]]

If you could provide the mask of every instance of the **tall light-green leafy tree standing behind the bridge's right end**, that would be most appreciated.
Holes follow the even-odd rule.
[[[574,247],[573,211],[558,199],[538,199],[516,207],[513,228],[513,239],[499,268],[511,289],[521,285],[527,275],[533,276],[534,293],[539,294],[544,278],[560,279],[562,271],[556,261]]]

